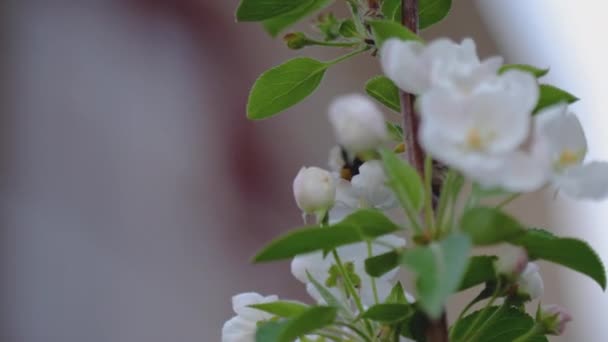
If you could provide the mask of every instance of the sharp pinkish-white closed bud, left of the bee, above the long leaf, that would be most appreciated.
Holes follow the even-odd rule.
[[[324,214],[336,198],[336,182],[332,175],[318,167],[303,167],[293,180],[293,195],[306,214]]]

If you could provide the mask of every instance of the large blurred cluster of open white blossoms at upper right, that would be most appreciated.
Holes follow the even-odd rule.
[[[535,113],[531,73],[499,73],[502,58],[480,61],[470,39],[391,39],[381,57],[385,74],[417,95],[420,143],[433,158],[486,187],[530,192],[550,183],[574,198],[608,195],[608,163],[584,163],[576,115],[566,104]]]

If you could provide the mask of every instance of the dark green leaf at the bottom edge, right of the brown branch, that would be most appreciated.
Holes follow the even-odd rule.
[[[498,310],[497,306],[489,308],[487,311],[479,310],[464,317],[458,321],[454,327],[453,340],[461,341],[463,336],[475,322],[479,315],[483,315],[481,321],[486,321],[490,315]],[[534,319],[525,312],[516,308],[502,309],[496,314],[488,325],[476,336],[475,341],[492,341],[492,342],[512,342],[517,337],[528,332],[534,325]],[[527,339],[526,342],[546,342],[547,338],[542,335],[537,335]]]

